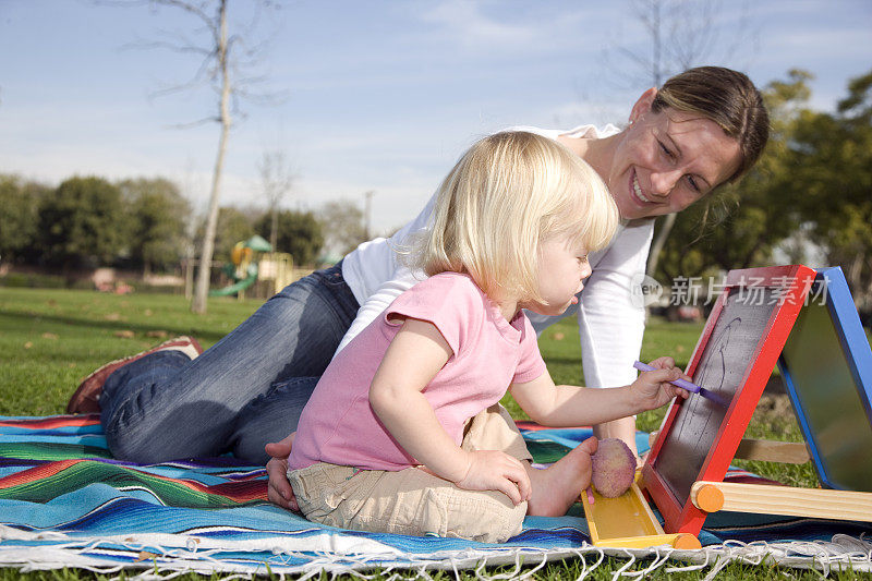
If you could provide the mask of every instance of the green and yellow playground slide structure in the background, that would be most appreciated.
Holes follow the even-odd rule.
[[[256,261],[257,254],[264,256]],[[293,259],[290,254],[272,252],[272,245],[259,235],[237,242],[230,255],[231,262],[223,265],[221,270],[231,280],[231,283],[220,289],[211,289],[210,296],[237,295],[244,298],[245,289],[261,281],[271,281],[267,292],[275,294],[293,277]]]

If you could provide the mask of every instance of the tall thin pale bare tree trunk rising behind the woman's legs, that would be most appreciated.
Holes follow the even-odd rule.
[[[221,38],[219,43],[219,59],[221,68],[221,138],[218,142],[218,155],[215,159],[215,172],[211,179],[211,194],[209,195],[209,213],[206,219],[206,232],[203,237],[203,252],[199,255],[199,271],[194,287],[194,300],[191,302],[193,313],[206,313],[206,298],[209,293],[209,274],[211,257],[215,251],[215,234],[218,228],[218,198],[221,185],[221,170],[225,165],[227,138],[230,134],[230,76],[227,63],[227,0],[221,0]]]

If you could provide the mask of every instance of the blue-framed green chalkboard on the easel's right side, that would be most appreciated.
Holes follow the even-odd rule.
[[[872,351],[841,268],[811,296],[778,366],[821,482],[872,493]]]

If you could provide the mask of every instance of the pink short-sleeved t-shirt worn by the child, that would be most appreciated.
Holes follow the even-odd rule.
[[[436,275],[399,295],[336,355],[300,417],[291,469],[315,462],[368,470],[417,464],[370,406],[370,385],[402,326],[389,322],[397,316],[432,323],[453,351],[423,394],[458,446],[467,420],[498,402],[510,384],[545,373],[523,312],[509,323],[470,277]]]

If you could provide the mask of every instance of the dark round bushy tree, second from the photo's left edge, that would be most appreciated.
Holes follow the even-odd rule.
[[[70,178],[39,205],[45,261],[74,267],[110,265],[126,242],[121,191],[101,178]]]

